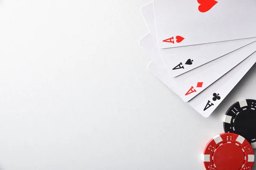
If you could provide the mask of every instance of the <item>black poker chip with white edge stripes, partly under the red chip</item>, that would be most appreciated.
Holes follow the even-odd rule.
[[[243,136],[256,148],[256,100],[246,99],[232,105],[224,119],[224,131]]]

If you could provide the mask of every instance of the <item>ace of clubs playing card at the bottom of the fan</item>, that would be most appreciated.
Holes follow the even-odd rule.
[[[157,51],[157,48],[154,48],[154,45],[144,45],[145,44],[143,44],[143,49],[153,59],[153,62],[148,66],[148,70],[172,91],[175,91],[173,85],[176,83],[176,78],[169,75],[160,59],[160,53]],[[244,77],[255,62],[256,53],[253,53],[207,89],[202,91],[201,94],[198,94],[198,96],[190,100],[188,104],[204,117],[208,117],[223,99],[225,99],[241,78]]]

